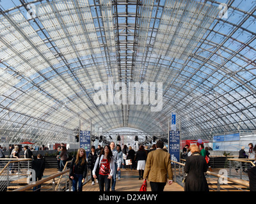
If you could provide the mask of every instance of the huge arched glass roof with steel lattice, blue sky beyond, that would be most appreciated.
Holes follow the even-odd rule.
[[[256,1],[0,5],[1,143],[68,142],[78,120],[167,133],[172,112],[182,139],[256,129]],[[106,93],[118,82],[161,83],[163,106],[129,104],[129,91],[120,104],[96,103],[99,82]]]

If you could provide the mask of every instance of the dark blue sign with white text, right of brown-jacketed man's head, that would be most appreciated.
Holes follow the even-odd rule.
[[[169,131],[169,153],[171,160],[180,162],[180,131]]]

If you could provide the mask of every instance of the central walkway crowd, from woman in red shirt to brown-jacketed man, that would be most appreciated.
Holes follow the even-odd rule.
[[[129,168],[138,170],[140,180],[150,180],[152,191],[163,191],[167,179],[169,179],[168,184],[172,184],[170,154],[164,151],[163,147],[164,143],[161,141],[150,150],[140,145],[136,152],[131,146],[127,150],[126,145],[121,149],[120,145],[115,146],[115,142],[104,147],[98,146],[97,150],[92,147],[93,153],[90,152],[88,156],[88,168],[92,170],[93,177],[92,185],[97,179],[100,191],[110,191],[110,189],[115,191],[116,179],[121,178],[120,169],[124,168],[125,160],[131,160]]]

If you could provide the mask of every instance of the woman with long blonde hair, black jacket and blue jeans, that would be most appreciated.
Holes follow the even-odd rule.
[[[87,174],[86,152],[83,148],[77,150],[70,165],[70,179],[72,179],[73,191],[83,191],[83,182]]]

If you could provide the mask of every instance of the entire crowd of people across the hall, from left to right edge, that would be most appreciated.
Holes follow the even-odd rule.
[[[149,180],[152,191],[163,191],[166,184],[172,184],[172,165],[170,154],[164,149],[164,143],[158,141],[152,145],[150,149],[147,146],[140,145],[140,148],[135,151],[131,146],[124,145],[123,149],[115,142],[97,149],[92,146],[88,158],[86,152],[80,148],[77,150],[76,156],[72,158],[70,164],[69,178],[72,180],[73,191],[82,191],[83,182],[86,178],[87,171],[90,170],[92,185],[95,182],[99,185],[100,191],[116,191],[116,180],[120,180],[121,168],[129,166],[131,170],[138,170],[139,180]],[[251,158],[255,159],[256,147],[252,143],[248,144],[248,155],[244,151],[245,147],[239,150],[239,159]],[[0,157],[3,150],[0,149]],[[186,159],[184,171],[186,178],[184,179],[184,191],[209,191],[205,172],[212,171],[209,165],[209,148],[200,145],[185,145],[182,149],[182,158]],[[20,158],[20,149],[18,145],[10,146],[11,158]],[[33,158],[33,152],[26,145],[24,146],[24,158]],[[68,154],[64,143],[61,143],[57,150],[58,171],[63,171],[67,162]],[[129,161],[127,163],[126,161]],[[255,162],[255,161],[254,161]],[[247,166],[247,170],[246,170]],[[32,162],[32,168],[36,171],[36,180],[42,179],[44,173],[44,159],[38,154]],[[240,166],[236,168],[239,170]],[[250,179],[250,190],[256,191],[256,170],[251,165],[241,163],[244,173],[248,173]],[[10,173],[13,173],[15,166],[11,166]],[[78,189],[77,189],[78,184]],[[40,186],[34,188],[35,191],[40,191]]]

